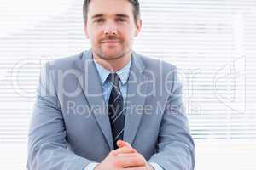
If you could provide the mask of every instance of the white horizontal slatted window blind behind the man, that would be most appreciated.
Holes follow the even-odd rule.
[[[41,15],[38,6],[0,6],[0,143],[26,143],[41,65],[90,48],[83,2],[58,2],[55,10],[40,8]],[[194,139],[256,139],[256,2],[141,5],[143,30],[134,49],[177,65]]]

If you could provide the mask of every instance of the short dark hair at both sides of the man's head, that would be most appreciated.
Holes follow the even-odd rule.
[[[83,6],[83,14],[84,14],[84,22],[87,20],[87,14],[88,14],[88,6],[91,0],[84,0],[84,6]],[[140,19],[140,3],[138,0],[127,0],[129,1],[133,6],[133,17],[134,20],[137,21]]]

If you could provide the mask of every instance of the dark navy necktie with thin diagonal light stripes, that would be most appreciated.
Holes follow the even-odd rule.
[[[113,146],[117,149],[116,142],[123,139],[125,127],[124,99],[119,88],[119,76],[111,73],[108,80],[112,83],[112,90],[108,100],[108,115],[113,134]]]

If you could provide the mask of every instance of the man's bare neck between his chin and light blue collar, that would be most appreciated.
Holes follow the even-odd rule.
[[[101,57],[93,53],[93,59],[96,61],[97,64],[101,65],[108,71],[116,72],[124,68],[125,65],[127,65],[130,62],[131,53],[125,54],[125,56],[120,57],[118,59],[102,59]]]

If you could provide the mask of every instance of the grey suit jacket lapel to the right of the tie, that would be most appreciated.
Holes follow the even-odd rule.
[[[126,96],[125,132],[124,140],[133,143],[137,129],[143,116],[143,105],[145,103],[148,83],[143,74],[143,61],[138,54],[132,53],[131,71],[128,79],[128,90]]]

